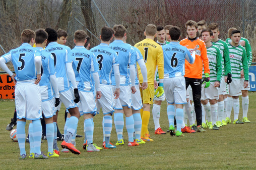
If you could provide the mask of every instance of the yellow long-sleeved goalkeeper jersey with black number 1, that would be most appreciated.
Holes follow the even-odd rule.
[[[145,65],[148,72],[148,84],[154,84],[154,76],[156,71],[156,66],[158,66],[159,79],[164,78],[164,55],[162,47],[151,39],[144,39],[143,41],[137,43],[134,47],[141,51]],[[141,68],[139,64],[139,80],[140,83],[143,82],[143,77],[141,74]]]

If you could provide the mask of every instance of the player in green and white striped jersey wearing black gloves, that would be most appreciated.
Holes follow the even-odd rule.
[[[229,50],[227,43],[218,38],[220,31],[217,23],[211,23],[209,28],[213,32],[212,44],[219,48],[222,56],[222,78],[219,88],[219,100],[218,100],[218,118],[217,126],[227,125],[225,121],[226,107],[227,107],[227,87],[232,81],[231,66],[229,60]],[[224,113],[225,112],[225,113]]]

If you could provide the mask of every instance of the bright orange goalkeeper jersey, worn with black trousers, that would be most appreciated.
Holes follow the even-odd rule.
[[[199,45],[199,48],[197,49],[197,52],[196,52],[195,63],[189,64],[185,60],[185,75],[184,75],[184,77],[202,79],[203,65],[204,65],[205,73],[210,74],[206,45],[203,40],[196,38],[196,40],[191,41],[188,38],[185,38],[185,39],[181,40],[179,44],[182,46],[185,46],[191,55],[192,55],[193,49],[197,45]]]

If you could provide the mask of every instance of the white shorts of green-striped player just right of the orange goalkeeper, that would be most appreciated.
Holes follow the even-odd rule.
[[[208,88],[205,88],[205,84],[202,84],[202,90],[201,90],[201,100],[219,100],[219,93],[218,93],[218,88],[219,87],[214,87],[215,82],[211,82],[210,86]]]

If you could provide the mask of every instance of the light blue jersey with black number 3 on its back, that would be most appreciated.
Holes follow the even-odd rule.
[[[104,43],[92,48],[90,51],[96,56],[98,62],[100,84],[111,85],[113,66],[118,65],[116,52]]]

